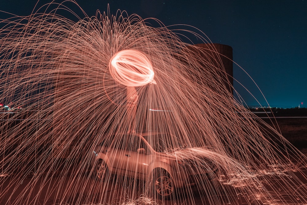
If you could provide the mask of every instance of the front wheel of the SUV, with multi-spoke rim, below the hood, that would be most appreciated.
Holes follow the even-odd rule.
[[[172,178],[165,171],[156,174],[153,181],[154,191],[160,198],[169,198],[174,191]]]

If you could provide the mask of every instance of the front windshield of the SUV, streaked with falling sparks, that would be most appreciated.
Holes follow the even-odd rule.
[[[156,152],[170,152],[187,147],[185,142],[174,135],[150,134],[143,137]]]

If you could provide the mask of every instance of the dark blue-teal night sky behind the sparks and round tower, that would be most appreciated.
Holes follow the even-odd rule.
[[[50,1],[40,1],[43,5]],[[59,1],[57,1],[59,2]],[[165,26],[184,24],[203,31],[213,43],[230,45],[233,60],[255,81],[271,107],[307,107],[307,0],[183,1],[76,0],[88,16],[96,10],[118,9],[142,18],[157,18]],[[35,0],[1,0],[0,10],[31,14]],[[0,13],[0,18],[9,15]],[[186,26],[175,28],[187,29]],[[201,43],[189,36],[193,43]],[[186,41],[186,39],[184,40]],[[189,42],[190,43],[190,42]],[[267,106],[251,78],[234,65],[234,78]],[[248,105],[257,105],[238,83],[235,89]]]

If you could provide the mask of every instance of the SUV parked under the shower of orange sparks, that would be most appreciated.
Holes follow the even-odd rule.
[[[214,153],[205,148],[186,148],[180,141],[155,133],[103,135],[91,165],[99,179],[108,173],[144,180],[160,197],[169,197],[175,188],[216,178],[218,168],[210,159]]]

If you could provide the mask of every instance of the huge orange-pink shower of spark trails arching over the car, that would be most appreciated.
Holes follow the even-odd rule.
[[[307,203],[306,156],[233,99],[220,59],[199,55],[214,48],[124,12],[72,21],[64,3],[0,22],[1,204]],[[135,157],[131,131],[157,152]]]

